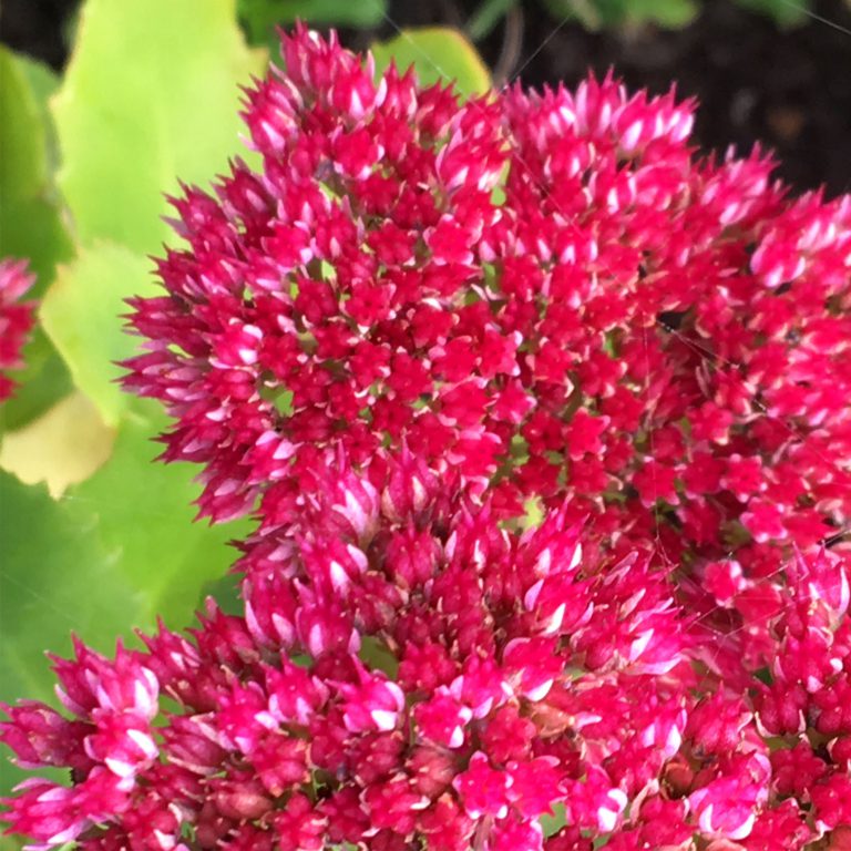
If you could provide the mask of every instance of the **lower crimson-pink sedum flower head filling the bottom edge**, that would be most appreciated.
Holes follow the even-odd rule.
[[[790,851],[850,824],[844,566],[790,566],[751,700],[700,677],[665,573],[580,537],[563,512],[509,531],[410,459],[380,490],[330,470],[244,618],[211,604],[112,662],[78,644],[55,665],[71,718],[7,709],[20,762],[73,780],[25,782],[12,829],[115,851]]]

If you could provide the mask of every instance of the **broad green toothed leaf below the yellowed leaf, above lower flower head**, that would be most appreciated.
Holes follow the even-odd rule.
[[[202,588],[234,561],[226,543],[247,523],[193,523],[195,470],[152,462],[163,419],[153,403],[130,411],[109,461],[59,501],[0,471],[1,700],[50,700],[43,653],[66,654],[72,630],[111,653],[157,615],[188,626]],[[14,771],[0,765],[1,794]]]

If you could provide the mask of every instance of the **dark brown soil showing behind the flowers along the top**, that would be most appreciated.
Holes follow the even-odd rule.
[[[121,2],[121,0],[115,0]],[[351,0],[358,2],[358,0]],[[61,69],[74,0],[2,0],[0,40]],[[377,31],[345,31],[346,44],[366,47],[396,34],[393,24],[463,28],[475,0],[393,0]],[[803,27],[780,30],[731,0],[705,0],[701,16],[679,31],[646,27],[591,33],[561,22],[525,0],[478,47],[498,82],[520,73],[526,84],[564,80],[587,69],[614,68],[633,89],[700,101],[697,137],[707,148],[740,152],[761,141],[776,150],[780,174],[798,189],[851,192],[851,8],[845,0],[813,3]]]

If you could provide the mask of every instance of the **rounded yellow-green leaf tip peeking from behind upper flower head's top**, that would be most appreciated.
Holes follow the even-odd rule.
[[[393,61],[400,71],[413,65],[424,85],[451,80],[464,95],[484,94],[491,88],[491,75],[482,58],[458,30],[445,27],[404,30],[370,49],[377,73]]]

